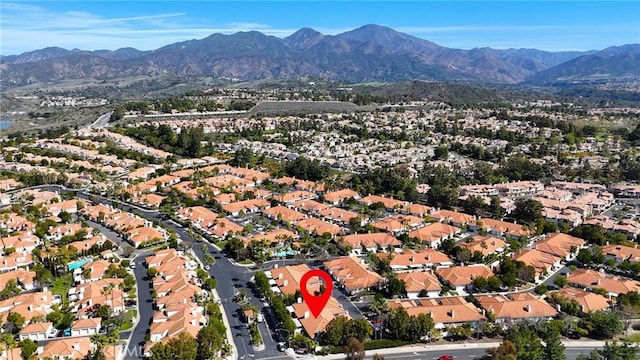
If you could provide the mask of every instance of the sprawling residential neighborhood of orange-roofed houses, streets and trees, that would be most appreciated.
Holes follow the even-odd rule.
[[[442,118],[454,109],[430,109],[310,120],[332,124],[327,132],[280,132],[293,116],[251,119],[243,129],[264,126],[273,141],[182,138],[185,149],[198,149],[192,157],[154,148],[139,132],[175,138],[174,131],[200,131],[200,120],[4,137],[2,333],[23,357],[28,349],[43,359],[159,359],[190,344],[203,358],[245,359],[339,353],[335,332],[345,324],[364,329],[364,344],[437,345],[553,321],[568,324],[566,338],[602,339],[596,316],[635,321],[637,185],[509,177],[509,160],[489,165],[460,148],[506,156],[509,141],[447,129],[540,139],[562,131],[488,109],[460,112],[455,122]],[[371,132],[430,136],[355,141],[345,116]],[[207,121],[205,134],[238,131],[230,119]],[[274,140],[282,136],[297,137],[298,146]],[[530,154],[518,146],[510,159]],[[586,164],[584,154],[599,156],[605,146],[622,154],[626,145],[609,136],[556,146],[567,152],[568,171],[577,153]],[[540,159],[557,160],[550,156]],[[492,180],[471,183],[480,170]],[[332,279],[317,317],[300,289],[311,269]],[[312,293],[326,289],[319,279],[307,283]],[[413,322],[422,325],[398,328]],[[5,353],[12,352],[0,359]]]

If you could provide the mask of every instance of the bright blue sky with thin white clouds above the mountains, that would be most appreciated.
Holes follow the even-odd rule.
[[[11,1],[0,2],[0,53],[47,46],[155,49],[212,33],[365,24],[451,48],[603,49],[640,43],[640,1]]]

